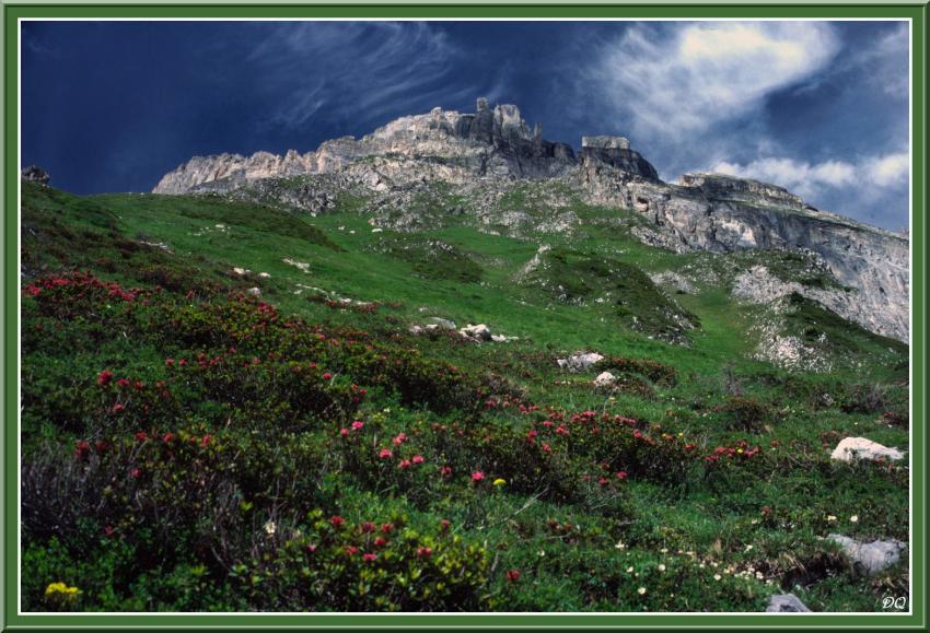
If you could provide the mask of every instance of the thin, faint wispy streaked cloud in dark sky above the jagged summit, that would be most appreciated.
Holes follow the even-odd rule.
[[[428,23],[300,22],[274,27],[245,61],[275,97],[268,122],[299,128],[323,112],[370,121],[500,90],[500,77],[483,86],[453,81],[465,57]]]

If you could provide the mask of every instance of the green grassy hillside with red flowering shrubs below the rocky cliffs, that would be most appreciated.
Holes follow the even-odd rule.
[[[545,214],[522,186],[501,206]],[[906,595],[905,565],[862,576],[822,537],[907,540],[906,467],[829,460],[850,435],[908,448],[907,350],[805,300],[783,327],[834,371],[749,360],[765,308],[726,276],[790,258],[670,254],[581,204],[570,234],[467,214],[400,234],[359,208],[23,183],[25,609]],[[700,274],[676,292],[666,271]],[[409,333],[431,317],[518,339]],[[562,372],[577,350],[606,357]]]

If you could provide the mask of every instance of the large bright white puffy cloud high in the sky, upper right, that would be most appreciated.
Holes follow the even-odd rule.
[[[637,133],[694,137],[810,78],[838,49],[819,22],[636,25],[603,48],[583,79]]]

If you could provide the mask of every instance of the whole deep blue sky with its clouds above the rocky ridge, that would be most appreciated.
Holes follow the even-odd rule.
[[[305,152],[485,95],[547,139],[629,136],[665,179],[755,177],[898,228],[907,61],[895,22],[26,22],[22,161],[144,191],[196,154]]]

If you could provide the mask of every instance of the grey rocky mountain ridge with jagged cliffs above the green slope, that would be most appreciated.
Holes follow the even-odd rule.
[[[635,210],[646,221],[637,237],[676,253],[776,249],[810,256],[828,271],[833,288],[779,282],[759,267],[741,280],[740,295],[765,303],[800,292],[870,331],[908,340],[907,237],[815,209],[756,180],[695,173],[663,183],[624,137],[583,137],[576,153],[545,140],[540,126],[531,130],[516,106],[491,108],[484,98],[473,114],[433,108],[306,154],[197,156],[166,174],[153,192],[220,192],[318,214],[350,190],[380,226],[415,231],[425,219],[411,200],[444,183],[463,212],[512,231],[525,218],[489,206],[488,197],[526,181],[566,188],[561,200],[546,201],[556,213],[573,200]],[[385,208],[399,214],[385,218],[379,212]],[[571,224],[568,219],[561,228],[571,231]]]

